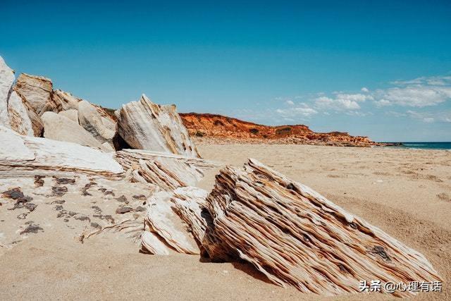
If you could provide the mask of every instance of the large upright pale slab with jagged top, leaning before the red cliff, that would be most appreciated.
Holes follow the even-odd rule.
[[[135,149],[199,157],[175,106],[160,106],[142,95],[116,111],[118,133]]]

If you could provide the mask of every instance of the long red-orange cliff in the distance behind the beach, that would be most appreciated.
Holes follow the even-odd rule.
[[[368,137],[348,133],[316,133],[307,125],[259,125],[208,113],[180,113],[192,137],[218,143],[282,143],[309,145],[362,146],[376,145]],[[203,138],[202,138],[203,137]]]

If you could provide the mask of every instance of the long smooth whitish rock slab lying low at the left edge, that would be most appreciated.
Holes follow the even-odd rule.
[[[0,127],[0,178],[20,176],[58,176],[85,173],[121,178],[123,168],[112,157],[97,149],[46,138],[21,136]]]

